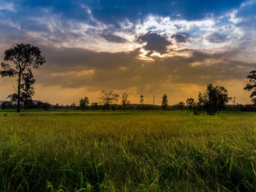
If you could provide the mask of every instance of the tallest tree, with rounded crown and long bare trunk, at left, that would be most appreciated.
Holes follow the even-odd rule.
[[[4,51],[4,61],[1,63],[2,77],[18,77],[17,88],[17,112],[20,112],[20,89],[23,76],[33,69],[39,69],[39,66],[45,63],[39,47],[30,44],[17,44]]]

